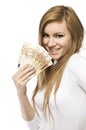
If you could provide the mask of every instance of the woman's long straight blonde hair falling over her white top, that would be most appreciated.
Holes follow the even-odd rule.
[[[38,91],[44,89],[44,101],[43,101],[43,113],[46,117],[46,109],[48,108],[49,115],[52,115],[52,112],[49,107],[49,98],[52,92],[52,89],[55,85],[54,97],[58,90],[61,77],[65,68],[65,65],[70,58],[70,56],[76,52],[79,52],[82,41],[84,37],[84,28],[82,26],[79,17],[76,15],[75,11],[68,6],[54,6],[50,8],[43,15],[40,25],[39,25],[39,44],[43,45],[43,33],[45,26],[50,22],[61,22],[62,20],[66,21],[68,31],[72,37],[72,47],[71,50],[63,56],[55,66],[50,66],[41,72],[38,75],[37,86],[33,92],[33,106],[35,108],[35,96]],[[36,110],[36,108],[35,108]]]

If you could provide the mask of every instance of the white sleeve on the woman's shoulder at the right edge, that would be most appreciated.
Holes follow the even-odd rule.
[[[72,60],[73,59],[73,60]],[[86,57],[80,54],[74,54],[68,63],[72,78],[77,84],[86,91]]]

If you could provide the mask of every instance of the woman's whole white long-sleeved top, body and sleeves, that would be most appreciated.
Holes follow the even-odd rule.
[[[37,93],[35,100],[40,118],[35,116],[27,122],[30,130],[86,130],[86,58],[80,54],[70,57],[54,102],[54,89],[49,106],[54,122],[47,122],[42,114],[44,91]],[[47,114],[48,117],[48,114]],[[53,126],[53,127],[52,127]]]

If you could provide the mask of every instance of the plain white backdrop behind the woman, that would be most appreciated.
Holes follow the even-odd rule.
[[[23,42],[37,44],[39,21],[47,9],[57,4],[73,7],[86,30],[84,0],[0,0],[0,130],[28,130],[11,77]],[[86,56],[86,51],[82,54]]]

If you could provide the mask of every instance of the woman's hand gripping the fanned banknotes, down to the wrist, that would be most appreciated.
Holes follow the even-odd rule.
[[[17,92],[26,94],[26,84],[30,80],[30,77],[35,74],[36,70],[31,65],[25,65],[13,75],[12,79],[17,88]]]

